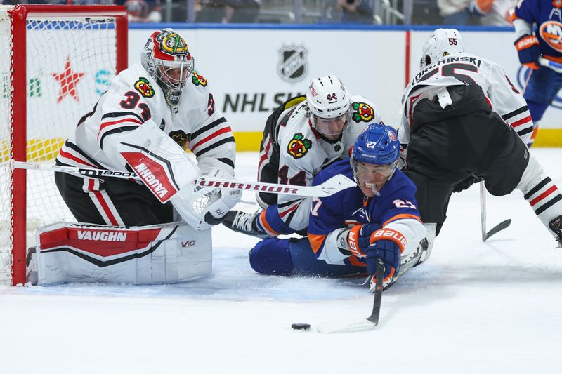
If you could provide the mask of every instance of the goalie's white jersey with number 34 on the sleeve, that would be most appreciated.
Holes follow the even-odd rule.
[[[76,131],[60,149],[57,163],[131,171],[119,152],[104,146],[115,144],[115,141],[107,142],[113,138],[118,139],[118,145],[129,142],[148,148],[150,138],[127,138],[127,135],[149,120],[181,148],[190,149],[202,171],[221,168],[234,175],[235,141],[228,121],[215,107],[207,80],[193,72],[182,90],[179,105],[171,108],[161,88],[141,63],[115,76],[93,111],[80,119]],[[162,150],[178,152],[167,148]]]

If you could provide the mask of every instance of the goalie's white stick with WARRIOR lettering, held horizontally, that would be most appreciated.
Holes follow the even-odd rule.
[[[11,168],[56,171],[59,173],[70,173],[81,177],[92,178],[124,178],[142,180],[136,173],[128,171],[113,171],[92,168],[74,168],[72,166],[45,165],[42,163],[32,163],[23,161],[10,161]],[[335,175],[326,182],[318,186],[295,186],[295,185],[277,185],[276,183],[264,182],[243,182],[240,180],[226,180],[201,177],[192,182],[194,185],[202,187],[221,187],[227,189],[243,189],[246,191],[268,192],[270,194],[287,194],[307,197],[325,197],[340,192],[349,187],[355,187],[357,184],[345,175]]]

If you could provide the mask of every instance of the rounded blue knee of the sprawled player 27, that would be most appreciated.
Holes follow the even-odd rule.
[[[250,266],[260,274],[292,275],[294,272],[289,239],[263,239],[251,248]]]

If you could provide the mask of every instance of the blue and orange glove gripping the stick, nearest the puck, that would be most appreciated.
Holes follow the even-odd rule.
[[[400,270],[400,254],[406,239],[393,229],[379,229],[372,235],[372,244],[367,248],[367,273],[375,276],[377,259],[384,264],[384,280],[391,279]]]

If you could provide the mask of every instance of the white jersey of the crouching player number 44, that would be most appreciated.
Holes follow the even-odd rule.
[[[340,157],[349,157],[350,149],[358,135],[370,125],[381,122],[381,116],[370,100],[360,95],[350,95],[351,123],[336,140],[322,137],[312,127],[308,119],[306,100],[293,111],[287,123],[279,123],[277,144],[280,147],[278,182],[288,185],[311,185],[313,178],[329,163]],[[280,120],[286,116],[285,112]],[[269,135],[271,136],[271,134]],[[271,140],[260,154],[258,175],[270,161],[273,149]],[[308,226],[308,215],[312,206],[311,198],[295,198],[290,195],[277,197],[277,209],[280,218],[294,230],[301,230]]]

